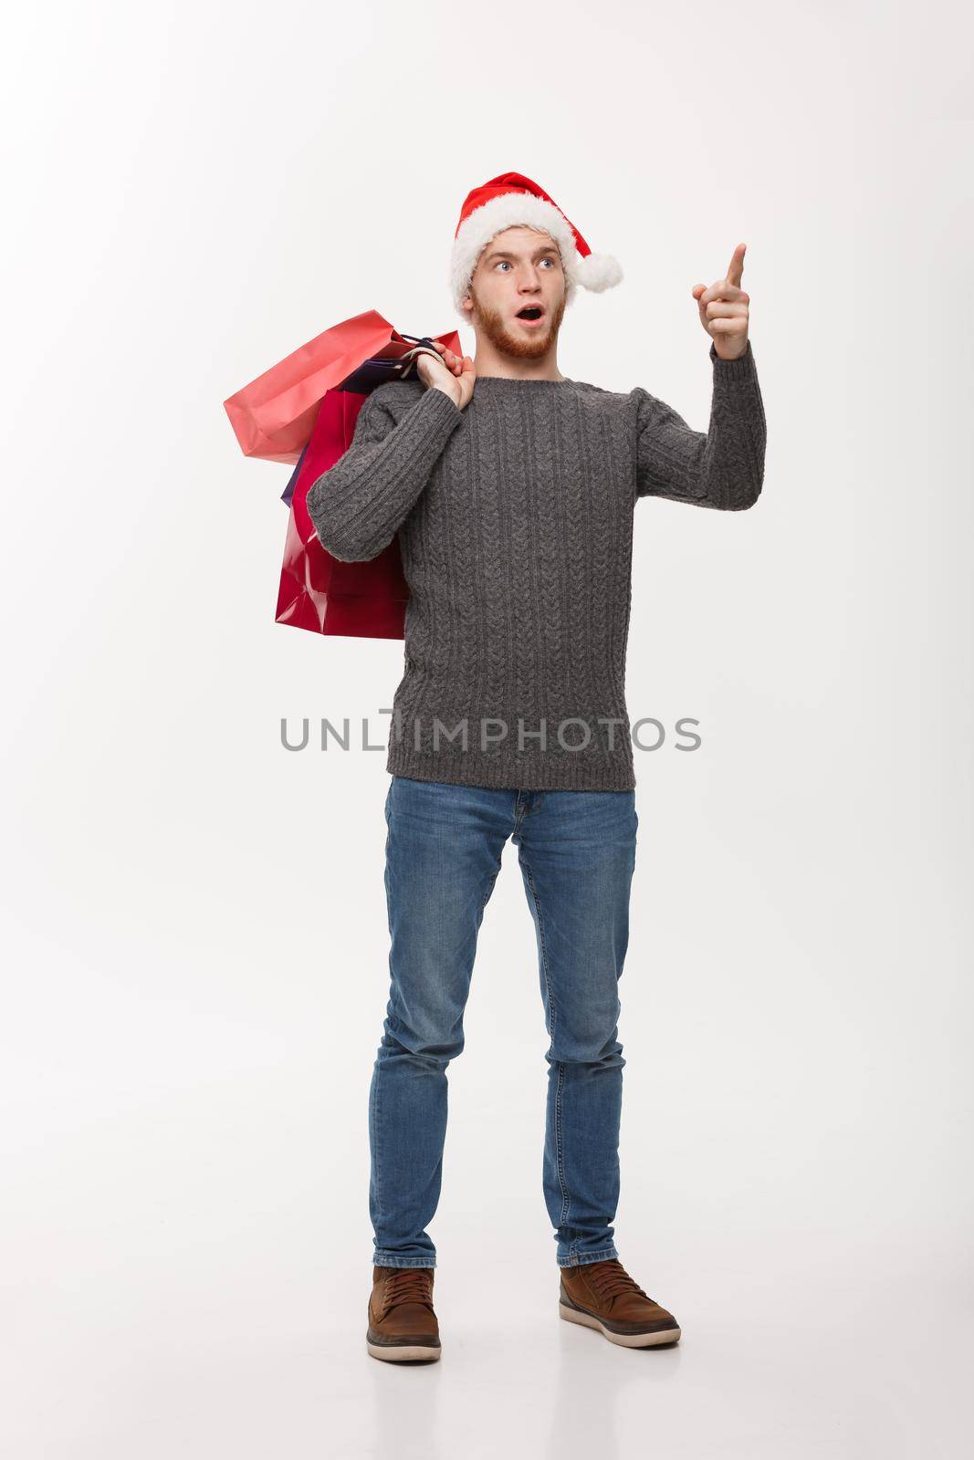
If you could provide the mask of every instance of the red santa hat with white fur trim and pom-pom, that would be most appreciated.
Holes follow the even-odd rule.
[[[521,172],[501,172],[467,193],[460,209],[450,257],[450,291],[456,310],[464,320],[470,320],[470,311],[463,308],[463,296],[478,258],[496,234],[517,226],[540,229],[558,244],[565,270],[565,304],[571,304],[578,285],[602,293],[622,282],[619,260],[610,254],[593,254],[545,188]]]

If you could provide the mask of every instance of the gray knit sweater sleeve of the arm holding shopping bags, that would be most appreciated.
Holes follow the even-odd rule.
[[[308,488],[321,546],[340,562],[378,558],[409,515],[463,410],[426,387],[399,422],[380,385],[355,419],[352,444]]]

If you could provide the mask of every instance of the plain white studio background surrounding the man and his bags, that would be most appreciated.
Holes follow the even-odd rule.
[[[900,1457],[970,1434],[971,26],[959,6],[20,9],[3,55],[4,1448],[44,1460]],[[441,1364],[365,1352],[402,641],[273,622],[289,469],[222,402],[377,308],[441,333],[466,193],[625,283],[562,372],[705,429],[748,244],[740,514],[637,510],[626,1267],[558,1321],[513,848],[450,1069]],[[464,347],[473,334],[463,331]]]

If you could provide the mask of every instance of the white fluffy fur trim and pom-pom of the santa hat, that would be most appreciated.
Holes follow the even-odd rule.
[[[460,231],[453,242],[450,256],[450,292],[457,312],[466,321],[470,311],[463,308],[463,296],[467,292],[478,258],[498,234],[505,228],[536,228],[548,234],[561,254],[565,270],[565,304],[571,304],[575,296],[575,286],[591,289],[600,293],[622,282],[622,266],[610,254],[587,254],[584,258],[575,247],[575,235],[568,219],[553,203],[533,193],[504,193],[492,197],[489,203],[482,203],[464,218]]]

